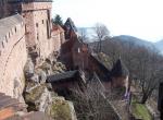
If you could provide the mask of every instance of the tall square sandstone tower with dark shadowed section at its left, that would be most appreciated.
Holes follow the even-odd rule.
[[[10,14],[20,13],[25,22],[25,39],[28,48],[42,58],[51,38],[52,0],[8,0]]]

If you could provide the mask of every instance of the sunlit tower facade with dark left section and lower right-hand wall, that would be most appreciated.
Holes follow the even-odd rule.
[[[64,33],[59,35],[52,29],[52,0],[8,0],[1,2],[1,17],[20,13],[25,23],[25,40],[29,51],[36,51],[41,59],[61,48]],[[57,44],[54,44],[57,43]],[[57,49],[58,48],[58,49]]]

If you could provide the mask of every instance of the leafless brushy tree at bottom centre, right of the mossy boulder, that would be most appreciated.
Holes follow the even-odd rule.
[[[78,120],[117,120],[118,117],[104,97],[104,86],[92,77],[84,92],[73,91],[72,98]]]

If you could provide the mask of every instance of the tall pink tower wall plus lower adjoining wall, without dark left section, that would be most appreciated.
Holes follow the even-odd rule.
[[[51,2],[24,3],[22,10],[27,46],[36,47],[42,59],[53,51],[60,51],[64,34],[52,31]]]

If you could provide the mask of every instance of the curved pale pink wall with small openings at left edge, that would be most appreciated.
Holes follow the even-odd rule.
[[[0,92],[20,97],[27,60],[25,27],[21,15],[0,20]]]

